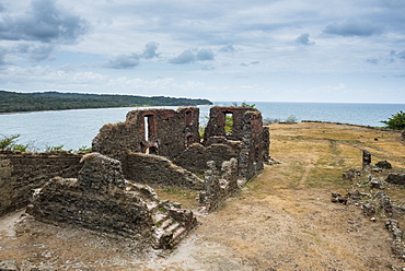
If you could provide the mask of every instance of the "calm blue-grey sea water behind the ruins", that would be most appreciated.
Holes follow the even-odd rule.
[[[386,120],[400,110],[405,111],[404,104],[333,104],[333,103],[265,103],[255,104],[263,118],[285,120],[294,117],[301,120],[322,120],[362,126],[383,126]],[[215,105],[233,105],[230,102],[217,102]],[[211,106],[199,106],[200,125],[205,126]],[[65,150],[78,150],[91,146],[92,139],[106,123],[124,121],[129,110],[146,107],[79,109],[59,111],[36,111],[24,114],[0,115],[0,134],[21,134],[19,142],[32,143],[39,150],[48,146],[63,145]],[[151,107],[148,107],[151,108]],[[158,107],[171,108],[177,107]]]

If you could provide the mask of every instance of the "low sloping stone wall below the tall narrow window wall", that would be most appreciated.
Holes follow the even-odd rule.
[[[195,190],[204,188],[204,181],[200,178],[162,156],[130,153],[124,163],[125,177],[135,182]]]

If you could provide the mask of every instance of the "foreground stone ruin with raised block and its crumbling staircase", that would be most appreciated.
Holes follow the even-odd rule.
[[[196,226],[193,212],[124,179],[119,161],[91,153],[82,162],[78,179],[57,177],[37,189],[27,212],[39,221],[130,237],[155,248],[172,248]]]

